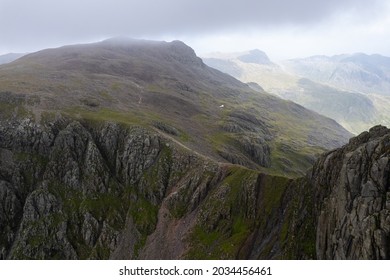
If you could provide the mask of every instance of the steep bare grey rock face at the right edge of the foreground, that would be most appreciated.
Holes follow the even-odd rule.
[[[319,259],[389,259],[390,130],[377,126],[323,156],[312,183],[325,193],[317,227]]]

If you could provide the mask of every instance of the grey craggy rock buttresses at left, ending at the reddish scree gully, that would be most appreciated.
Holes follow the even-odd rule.
[[[141,128],[86,127],[68,120],[1,125],[2,258],[107,258],[121,240],[129,201],[160,203],[169,180],[160,139]]]

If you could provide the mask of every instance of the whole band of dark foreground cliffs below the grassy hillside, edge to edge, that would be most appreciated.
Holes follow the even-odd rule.
[[[375,127],[292,180],[137,126],[2,122],[0,257],[386,259],[389,140]]]

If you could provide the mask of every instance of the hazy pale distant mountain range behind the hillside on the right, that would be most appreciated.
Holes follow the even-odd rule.
[[[251,60],[242,57],[250,55]],[[255,58],[257,56],[257,58]],[[353,133],[390,124],[390,58],[380,55],[314,56],[269,60],[264,52],[210,54],[206,64],[335,119]]]

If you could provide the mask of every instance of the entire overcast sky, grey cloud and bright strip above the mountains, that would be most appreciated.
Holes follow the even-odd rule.
[[[388,0],[0,0],[0,54],[114,36],[208,52],[258,48],[272,59],[390,56]]]

